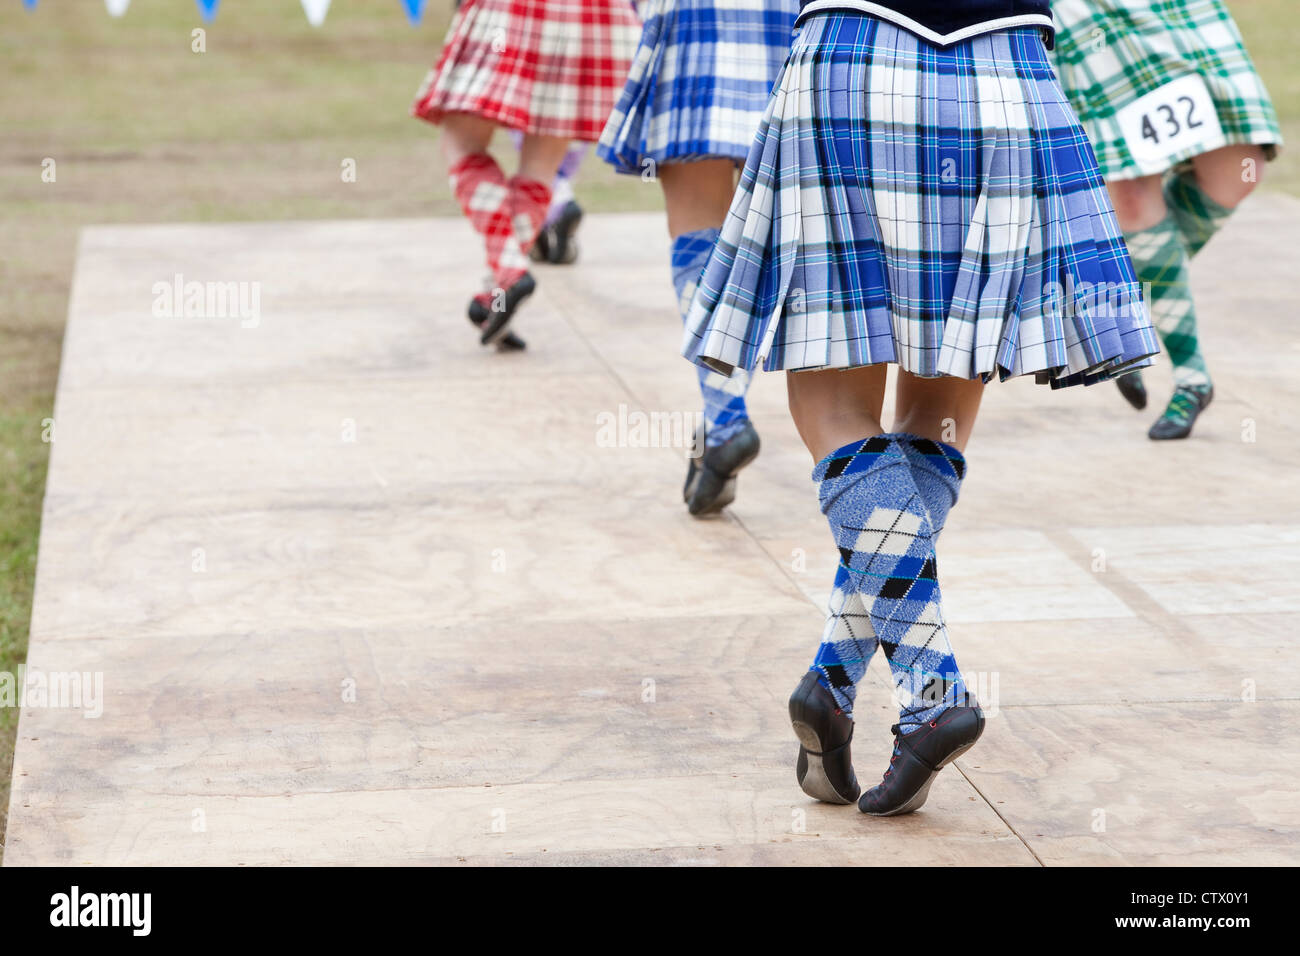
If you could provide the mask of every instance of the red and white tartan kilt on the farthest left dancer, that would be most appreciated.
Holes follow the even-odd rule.
[[[411,113],[429,122],[473,113],[594,143],[640,36],[629,0],[469,0]]]

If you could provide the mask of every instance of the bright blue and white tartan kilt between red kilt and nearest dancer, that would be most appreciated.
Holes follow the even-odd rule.
[[[745,160],[793,40],[798,0],[646,0],[641,43],[597,153],[620,173]]]

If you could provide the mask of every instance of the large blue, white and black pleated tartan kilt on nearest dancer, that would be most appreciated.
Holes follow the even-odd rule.
[[[692,303],[686,358],[1060,388],[1157,351],[1039,30],[940,48],[863,14],[805,21]]]

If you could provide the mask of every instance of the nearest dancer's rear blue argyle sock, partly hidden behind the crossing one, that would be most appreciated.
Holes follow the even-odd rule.
[[[937,540],[948,520],[948,512],[961,494],[966,458],[952,445],[931,441],[919,434],[904,434],[898,438],[930,516],[931,533]],[[854,669],[854,679],[850,683],[855,684],[866,672],[871,656],[879,646],[862,593],[853,584],[853,575],[846,568],[836,568],[826,628],[822,632],[822,646],[818,648],[816,663],[812,665],[814,670],[822,671],[823,685],[836,695],[840,706],[848,713],[853,711],[853,695],[842,689],[842,682],[848,676],[844,662],[849,661],[849,666]],[[838,670],[832,672],[829,667]],[[836,687],[837,680],[841,682],[841,688]]]

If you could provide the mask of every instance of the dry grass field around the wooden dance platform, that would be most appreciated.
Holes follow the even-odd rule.
[[[1231,3],[1295,144],[1268,189],[1300,194],[1294,0]],[[321,30],[296,0],[0,4],[0,671],[26,656],[36,541],[78,230],[95,222],[454,215],[436,135],[407,116],[450,3],[419,27],[396,0],[335,4]],[[42,182],[53,159],[56,182]],[[355,183],[339,176],[356,161]],[[659,207],[653,185],[593,159],[590,209]],[[17,713],[0,708],[0,835]],[[3,847],[0,847],[3,851]]]

